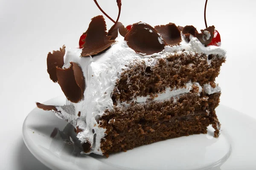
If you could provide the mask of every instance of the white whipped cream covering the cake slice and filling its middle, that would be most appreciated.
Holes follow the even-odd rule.
[[[81,116],[76,121],[76,126],[83,131],[78,133],[77,137],[81,142],[90,142],[92,148],[89,153],[99,155],[102,155],[100,142],[105,136],[105,129],[99,127],[97,121],[104,114],[106,108],[110,111],[113,109],[111,94],[116,85],[116,80],[120,78],[122,71],[128,69],[127,65],[137,65],[137,63],[143,62],[146,66],[152,67],[157,63],[157,59],[174,55],[175,52],[194,52],[204,53],[206,55],[218,54],[218,57],[225,57],[226,54],[226,51],[221,47],[205,47],[195,37],[192,37],[190,42],[187,42],[183,35],[180,45],[166,46],[162,52],[147,56],[137,54],[133,49],[129,48],[122,36],[119,35],[116,40],[117,42],[110,49],[95,57],[81,57],[82,49],[79,48],[66,49],[64,55],[63,68],[70,67],[70,62],[76,62],[80,65],[85,78],[86,89],[84,91],[84,99],[78,103],[67,102],[67,105],[73,105],[75,108],[74,114],[71,116],[72,121],[78,117],[76,115],[79,111],[81,112]],[[210,62],[208,63],[210,64]],[[154,100],[169,99],[188,93],[192,85],[197,85],[199,91],[202,90],[202,87],[198,83],[188,82],[186,88],[166,89],[165,93],[159,94]],[[203,89],[208,94],[216,93],[220,90],[217,88],[212,89],[208,85],[204,85]],[[145,102],[147,97],[137,97],[137,102]],[[63,110],[63,108],[59,109]],[[66,113],[67,111],[64,115],[70,116],[70,114]]]

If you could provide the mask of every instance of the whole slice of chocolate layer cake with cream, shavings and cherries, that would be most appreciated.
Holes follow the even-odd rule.
[[[107,32],[103,16],[94,17],[81,48],[48,54],[50,79],[67,103],[38,108],[73,125],[87,154],[108,156],[207,133],[209,125],[218,137],[221,89],[215,78],[226,52],[215,27],[199,33],[194,26],[138,22],[125,28],[118,19]]]

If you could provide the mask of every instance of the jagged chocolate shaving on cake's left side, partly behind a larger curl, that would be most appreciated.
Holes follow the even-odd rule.
[[[64,65],[65,46],[63,45],[59,51],[53,51],[47,55],[47,72],[53,82],[57,82],[56,66],[61,68]]]

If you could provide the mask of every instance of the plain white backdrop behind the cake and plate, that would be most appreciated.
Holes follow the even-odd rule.
[[[98,0],[116,19],[116,0]],[[123,0],[120,22],[204,26],[204,0]],[[217,82],[221,104],[256,118],[254,0],[209,0],[208,25],[221,34],[227,62]],[[90,19],[102,14],[93,0],[0,0],[0,169],[48,170],[27,150],[22,123],[35,108],[62,94],[47,74],[47,53],[78,46]],[[108,28],[112,26],[106,18]],[[256,148],[252,148],[256,149]]]

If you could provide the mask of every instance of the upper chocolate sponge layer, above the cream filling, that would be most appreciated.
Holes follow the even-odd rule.
[[[155,95],[166,88],[182,88],[189,82],[201,86],[214,82],[224,57],[197,53],[175,53],[166,58],[156,59],[156,64],[147,67],[145,62],[128,65],[116,82],[112,99],[117,102],[131,101],[137,96]]]

